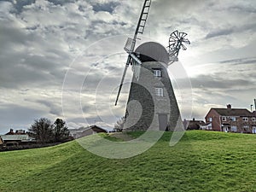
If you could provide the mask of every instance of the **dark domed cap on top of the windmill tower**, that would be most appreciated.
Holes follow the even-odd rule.
[[[166,48],[155,42],[147,42],[141,44],[135,50],[136,53],[140,54],[140,60],[146,61],[161,61],[166,64],[169,62],[169,54]]]

